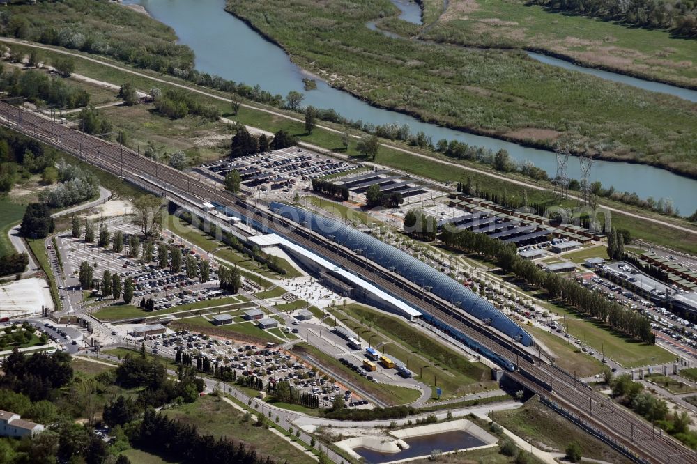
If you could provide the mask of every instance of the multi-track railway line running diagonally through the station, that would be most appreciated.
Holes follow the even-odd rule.
[[[518,367],[517,371],[507,372],[510,378],[572,412],[585,424],[605,435],[615,444],[615,447],[625,449],[627,455],[634,461],[668,464],[697,463],[697,454],[694,451],[687,449],[661,431],[654,430],[648,422],[629,410],[614,405],[606,397],[567,373],[546,364],[541,356],[535,362],[528,351],[505,339],[490,327],[484,327],[482,323],[454,307],[451,302],[425,293],[424,289],[418,288],[404,277],[357,256],[352,250],[344,249],[342,245],[327,240],[319,233],[304,229],[289,219],[263,210],[250,202],[236,199],[227,192],[211,189],[197,178],[148,160],[127,148],[68,129],[5,102],[0,102],[0,120],[15,130],[66,150],[85,162],[148,190],[163,196],[187,194],[205,201],[216,201],[236,210],[240,215],[263,224],[270,231],[289,236],[298,245],[319,252],[350,271],[363,275],[369,272],[369,279],[378,286],[394,295],[401,296],[415,307],[427,311],[434,318],[459,330],[480,345],[490,346],[496,343],[496,353],[510,359]]]

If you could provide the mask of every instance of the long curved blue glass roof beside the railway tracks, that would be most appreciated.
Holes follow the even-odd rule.
[[[443,300],[454,304],[460,302],[461,309],[480,320],[491,319],[491,326],[496,327],[509,337],[521,337],[523,345],[533,344],[533,337],[530,337],[528,332],[496,309],[489,301],[484,300],[480,295],[452,277],[431,268],[401,249],[392,247],[392,245],[353,229],[353,227],[346,226],[342,222],[317,215],[314,212],[275,202],[271,203],[270,207],[293,222],[307,223],[306,225],[312,231],[332,238],[335,242],[352,249],[354,252],[362,250],[362,254],[371,261],[378,263],[383,268],[394,269],[395,272],[419,286],[430,286],[431,293],[443,298]]]

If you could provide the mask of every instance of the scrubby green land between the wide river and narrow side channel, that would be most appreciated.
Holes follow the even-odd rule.
[[[694,105],[534,62],[520,52],[386,38],[365,22],[387,0],[229,0],[227,10],[298,65],[374,105],[546,148],[655,164],[697,176]]]

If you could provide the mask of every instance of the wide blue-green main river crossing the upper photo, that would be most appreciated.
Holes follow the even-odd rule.
[[[393,0],[398,7],[403,2]],[[302,78],[312,76],[293,64],[283,49],[259,36],[245,22],[225,13],[224,0],[125,0],[123,3],[144,6],[156,20],[171,26],[179,41],[193,49],[195,66],[201,72],[250,85],[259,84],[266,91],[281,95],[300,91],[305,93],[305,105],[333,108],[346,118],[375,125],[408,124],[412,133],[423,131],[434,143],[439,139],[454,139],[494,151],[505,148],[514,160],[528,160],[551,176],[556,174],[556,156],[546,150],[451,130],[423,123],[397,111],[372,107],[320,79],[316,90],[305,92]],[[415,6],[414,3],[411,5]],[[415,10],[411,9],[408,17],[413,18],[414,14]],[[568,165],[569,178],[579,178],[580,172],[579,161],[572,157]],[[599,180],[606,187],[613,185],[615,190],[636,192],[641,198],[670,198],[682,214],[691,214],[696,207],[697,180],[664,169],[599,160],[593,164],[590,178]]]

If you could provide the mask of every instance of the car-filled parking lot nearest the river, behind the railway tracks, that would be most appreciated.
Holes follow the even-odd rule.
[[[229,171],[238,171],[243,186],[250,189],[266,187],[269,190],[309,187],[314,178],[354,171],[361,167],[361,164],[335,160],[295,146],[268,153],[227,158],[200,166],[221,181]]]

